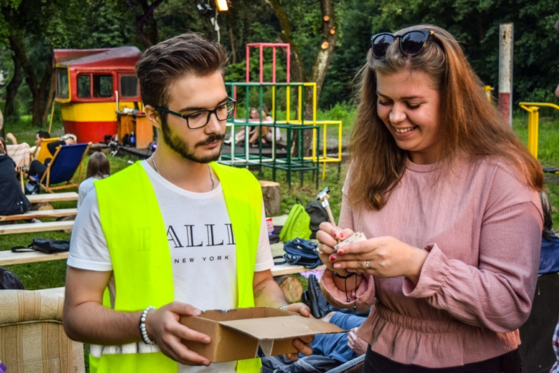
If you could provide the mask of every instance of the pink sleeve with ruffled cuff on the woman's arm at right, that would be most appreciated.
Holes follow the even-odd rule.
[[[506,333],[530,314],[543,222],[536,192],[511,190],[514,181],[497,178],[481,223],[478,266],[449,259],[444,248],[431,243],[423,248],[429,254],[419,282],[414,287],[405,280],[402,290],[464,323]],[[518,195],[529,197],[518,201]]]

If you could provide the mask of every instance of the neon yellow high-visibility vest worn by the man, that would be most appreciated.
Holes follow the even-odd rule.
[[[237,307],[254,307],[252,279],[262,218],[262,190],[246,169],[212,162],[222,183],[236,245]],[[139,311],[174,300],[173,271],[166,229],[150,179],[140,165],[95,182],[117,294],[115,310]],[[110,307],[108,297],[103,304]],[[139,323],[139,319],[138,319]],[[139,332],[138,332],[139,333]],[[139,342],[143,344],[143,342]],[[90,372],[177,372],[161,352],[90,355]],[[260,359],[239,360],[237,372],[260,372]]]

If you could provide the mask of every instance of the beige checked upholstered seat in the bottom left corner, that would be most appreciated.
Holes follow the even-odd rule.
[[[83,344],[62,326],[64,298],[0,291],[0,360],[7,372],[85,372]]]

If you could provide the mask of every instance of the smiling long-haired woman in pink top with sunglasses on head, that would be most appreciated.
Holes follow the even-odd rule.
[[[317,238],[328,300],[371,307],[363,372],[520,372],[543,174],[453,36],[373,36],[350,148],[339,227]]]

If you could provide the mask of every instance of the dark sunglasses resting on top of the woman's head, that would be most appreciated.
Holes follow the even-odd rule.
[[[371,52],[375,58],[383,59],[389,46],[394,40],[400,38],[400,51],[406,56],[415,56],[432,35],[434,36],[435,33],[427,30],[412,30],[402,35],[393,35],[389,32],[377,33],[371,38]]]

